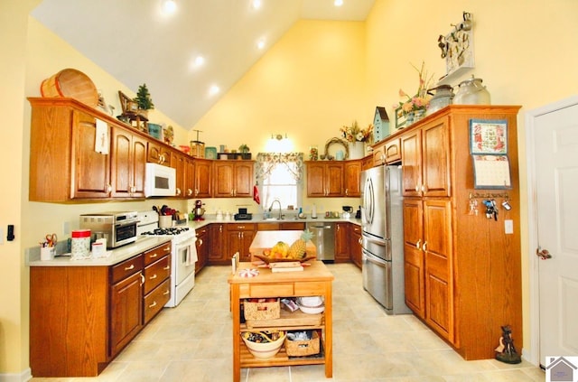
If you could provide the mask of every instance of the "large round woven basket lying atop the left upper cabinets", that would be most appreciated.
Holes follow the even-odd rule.
[[[89,76],[75,69],[64,69],[40,86],[42,97],[70,97],[79,100],[89,107],[97,107],[98,90]]]

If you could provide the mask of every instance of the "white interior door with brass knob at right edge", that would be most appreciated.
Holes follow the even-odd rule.
[[[578,356],[578,104],[536,116],[533,133],[536,250],[551,255],[536,254],[544,366],[546,356]]]

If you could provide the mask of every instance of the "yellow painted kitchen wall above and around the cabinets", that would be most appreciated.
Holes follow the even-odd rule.
[[[39,95],[42,79],[67,67],[82,70],[103,90],[107,103],[117,102],[119,89],[129,96],[135,90],[126,89],[35,20],[29,20],[30,10],[38,3],[0,1],[0,32],[10,36],[3,38],[0,53],[0,69],[5,75],[0,92],[5,125],[0,158],[3,175],[10,184],[3,187],[0,198],[4,238],[7,224],[16,227],[14,242],[0,245],[0,375],[5,376],[21,375],[28,368],[28,269],[23,262],[24,248],[34,246],[46,232],[63,237],[62,223],[68,221],[75,228],[79,213],[152,206],[146,201],[72,206],[28,201],[30,107],[25,97]],[[578,2],[503,0],[494,5],[497,3],[444,0],[434,6],[425,4],[429,5],[378,0],[367,23],[296,23],[194,128],[206,132],[202,139],[208,145],[236,148],[245,143],[254,153],[276,133],[287,133],[298,151],[306,152],[311,144],[323,148],[328,139],[339,135],[340,126],[353,119],[361,124],[370,122],[376,106],[387,107],[391,113],[391,105],[398,100],[397,90],[415,87],[410,62],[419,64],[424,60],[428,70],[443,75],[437,36],[449,32],[450,23],[457,23],[461,12],[468,11],[474,18],[476,69],[472,73],[484,79],[494,104],[523,106],[518,117],[518,141],[525,220],[524,113],[576,92],[578,72],[573,68],[578,63],[578,52],[573,48],[578,45],[578,24],[574,22]],[[159,111],[155,113],[159,113],[155,116],[159,122],[172,123]],[[175,142],[193,138],[177,131]],[[207,201],[213,207],[217,205],[214,200]],[[340,199],[321,202],[325,210],[344,203],[355,205]],[[247,200],[227,203],[234,210]],[[186,202],[171,204],[183,210],[190,207]],[[526,224],[522,230],[527,347],[530,331],[536,326],[529,322],[528,313]]]

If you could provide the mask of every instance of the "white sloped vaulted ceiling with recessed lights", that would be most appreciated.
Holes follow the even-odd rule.
[[[146,83],[154,106],[191,129],[299,19],[364,21],[375,2],[175,0],[166,14],[163,1],[44,0],[32,14],[129,89]]]

